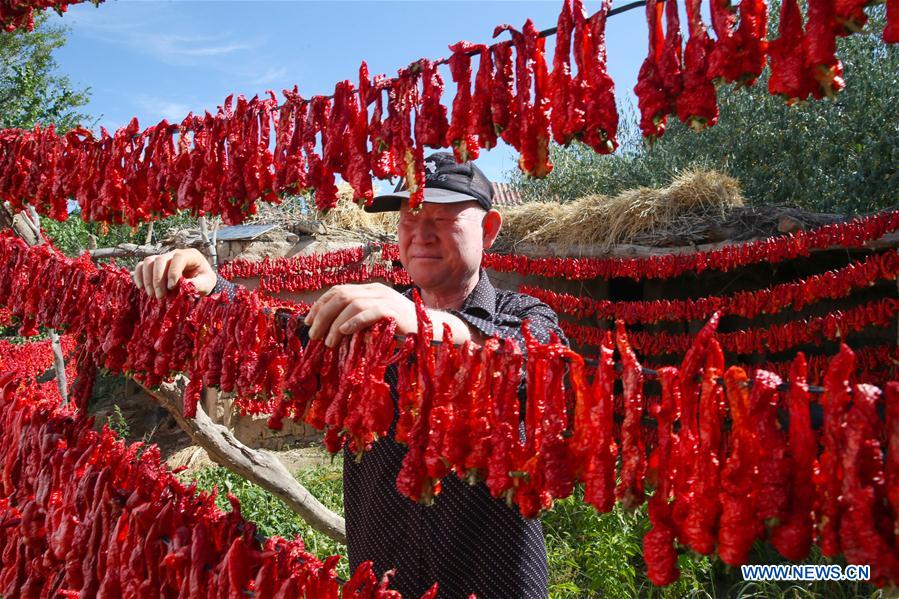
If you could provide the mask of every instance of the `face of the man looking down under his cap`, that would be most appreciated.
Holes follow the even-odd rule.
[[[408,201],[400,208],[400,261],[422,289],[447,290],[478,271],[484,252],[484,215],[475,202],[424,202],[413,214]]]

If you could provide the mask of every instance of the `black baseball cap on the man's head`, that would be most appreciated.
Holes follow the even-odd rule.
[[[393,193],[376,197],[366,212],[391,212],[409,198],[405,179]],[[425,158],[424,201],[435,204],[476,201],[484,210],[493,208],[493,185],[473,162],[456,162],[449,152],[435,152]]]

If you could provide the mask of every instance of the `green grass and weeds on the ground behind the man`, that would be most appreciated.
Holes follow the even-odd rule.
[[[342,463],[338,458],[328,466],[309,468],[297,479],[328,508],[343,514]],[[306,525],[284,503],[256,485],[224,468],[210,468],[197,476],[199,486],[217,485],[223,492],[219,505],[229,509],[224,491],[241,501],[244,517],[259,525],[261,534],[293,537],[299,534],[307,548],[319,557],[346,555],[346,547]],[[678,559],[681,576],[674,584],[659,588],[646,578],[643,564],[643,535],[649,528],[646,506],[627,512],[616,505],[608,514],[598,514],[583,503],[582,493],[558,501],[543,515],[543,533],[549,555],[551,599],[594,597],[652,597],[701,599],[792,599],[869,597],[883,592],[871,585],[852,582],[746,582],[739,568],[718,559],[684,552]],[[750,562],[788,563],[766,543],[757,543]],[[815,549],[803,563],[843,564],[824,558]],[[346,559],[338,573],[348,575]]]

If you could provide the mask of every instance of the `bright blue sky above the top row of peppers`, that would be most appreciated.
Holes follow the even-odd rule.
[[[625,2],[617,2],[624,4]],[[360,62],[393,75],[421,57],[449,54],[459,41],[489,42],[493,27],[556,23],[561,1],[134,1],[73,6],[54,20],[69,27],[58,51],[60,71],[91,89],[86,111],[115,129],[138,117],[142,126],[189,111],[214,110],[231,94],[252,96],[299,86],[304,97],[330,94],[357,78]],[[599,2],[586,2],[591,13]],[[548,60],[552,38],[547,41]],[[609,20],[609,71],[619,101],[636,83],[646,55],[643,9]],[[448,71],[444,102],[454,86]],[[506,180],[517,156],[507,146],[483,153],[478,165]]]

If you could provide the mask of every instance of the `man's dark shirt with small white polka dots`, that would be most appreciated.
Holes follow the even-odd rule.
[[[223,290],[230,291],[217,285]],[[484,335],[510,337],[522,348],[524,320],[540,341],[554,332],[567,342],[552,309],[531,296],[496,289],[483,269],[462,306],[450,312]],[[396,406],[396,367],[387,370],[386,381]],[[472,486],[455,474],[443,479],[431,506],[400,495],[396,477],[407,450],[392,438],[395,425],[396,418],[390,434],[360,462],[344,455],[350,569],[371,560],[376,572],[394,570],[391,587],[404,597],[421,596],[435,581],[441,599],[467,599],[472,593],[478,599],[547,597],[540,520],[522,518],[517,508],[494,499],[484,483]]]

